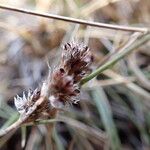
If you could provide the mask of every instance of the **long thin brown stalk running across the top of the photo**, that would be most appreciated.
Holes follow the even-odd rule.
[[[72,22],[72,23],[89,25],[89,26],[93,26],[93,27],[100,27],[100,28],[107,28],[107,29],[114,29],[114,30],[122,30],[122,31],[128,31],[128,32],[147,33],[149,31],[148,28],[144,28],[144,27],[143,28],[142,27],[141,28],[140,27],[128,27],[128,26],[93,22],[93,21],[87,21],[87,20],[76,19],[76,18],[71,18],[71,17],[59,16],[59,15],[54,15],[54,14],[49,14],[49,13],[43,13],[43,12],[40,13],[40,12],[37,12],[37,11],[32,11],[32,10],[27,10],[27,9],[22,9],[22,8],[15,8],[15,7],[6,6],[6,5],[0,5],[0,9],[20,12],[20,13],[39,16],[39,17],[44,17],[44,18],[51,18],[51,19],[56,19],[56,20],[61,20],[61,21],[67,21],[67,22]]]

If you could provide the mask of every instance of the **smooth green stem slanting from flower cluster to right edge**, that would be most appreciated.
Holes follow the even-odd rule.
[[[113,66],[115,63],[117,63],[120,59],[122,59],[124,56],[132,52],[134,49],[138,48],[139,46],[143,45],[144,43],[148,42],[150,40],[150,34],[146,34],[142,36],[141,39],[137,40],[136,42],[133,43],[130,47],[126,48],[123,52],[118,53],[116,56],[114,56],[111,60],[109,60],[107,63],[99,67],[97,70],[92,72],[90,75],[86,76],[83,78],[80,82],[80,85],[85,84],[86,82],[90,81],[100,73],[102,73],[104,70],[110,68]]]

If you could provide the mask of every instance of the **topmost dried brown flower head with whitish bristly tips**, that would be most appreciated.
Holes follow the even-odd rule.
[[[77,83],[91,71],[92,60],[91,51],[87,46],[71,42],[66,43],[63,47],[60,66]]]

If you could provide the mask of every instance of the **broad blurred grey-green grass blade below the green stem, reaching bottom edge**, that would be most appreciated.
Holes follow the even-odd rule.
[[[102,118],[104,128],[108,134],[112,150],[120,150],[121,144],[118,137],[117,129],[112,118],[111,108],[102,88],[92,91],[93,100]]]

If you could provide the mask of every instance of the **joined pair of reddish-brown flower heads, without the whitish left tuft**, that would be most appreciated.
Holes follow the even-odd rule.
[[[87,46],[66,43],[63,47],[60,66],[53,72],[50,90],[57,103],[76,103],[79,101],[78,83],[88,74],[92,62],[91,51]]]

